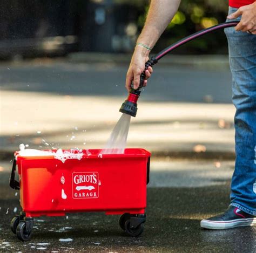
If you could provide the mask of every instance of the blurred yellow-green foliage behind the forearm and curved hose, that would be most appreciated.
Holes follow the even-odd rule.
[[[150,1],[116,0],[119,3],[132,2],[142,8],[138,18],[138,26],[143,28]],[[181,0],[180,8],[165,32],[159,39],[154,51],[177,42],[201,29],[208,28],[226,20],[228,1],[223,0]],[[186,44],[176,53],[227,53],[227,42],[223,31],[214,32]]]

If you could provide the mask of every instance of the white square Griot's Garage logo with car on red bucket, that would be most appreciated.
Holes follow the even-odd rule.
[[[72,185],[73,199],[96,199],[99,197],[98,172],[74,172]]]

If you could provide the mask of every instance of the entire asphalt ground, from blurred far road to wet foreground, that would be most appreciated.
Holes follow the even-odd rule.
[[[126,236],[117,216],[76,213],[38,217],[25,243],[9,228],[20,210],[19,195],[8,186],[13,153],[20,143],[38,149],[103,148],[127,95],[128,65],[63,59],[1,63],[0,251],[255,252],[255,228],[199,226],[202,218],[227,208],[234,167],[231,74],[226,60],[220,65],[214,60],[212,65],[193,58],[200,62],[195,66],[176,58],[155,66],[139,98],[127,147],[152,152],[142,236]]]

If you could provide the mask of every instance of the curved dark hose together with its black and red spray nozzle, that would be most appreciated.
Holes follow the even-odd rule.
[[[164,57],[167,53],[170,53],[172,50],[176,49],[177,47],[184,45],[187,42],[190,42],[193,39],[196,39],[198,37],[201,37],[205,35],[206,33],[210,33],[219,29],[224,29],[224,28],[229,28],[232,26],[236,26],[239,22],[238,21],[233,21],[233,22],[226,22],[226,23],[221,23],[218,25],[211,26],[210,28],[206,28],[204,30],[201,30],[199,32],[193,33],[190,36],[185,37],[184,39],[179,40],[178,42],[166,47],[166,49],[162,50],[159,52],[156,56],[152,57],[150,60],[148,60],[145,64],[145,69],[143,73],[140,75],[140,81],[139,81],[139,87],[137,90],[133,88],[133,83],[131,84],[131,90],[129,92],[129,95],[127,99],[123,102],[122,106],[120,107],[119,112],[131,115],[132,117],[136,117],[137,114],[137,101],[139,98],[139,95],[141,93],[141,89],[143,87],[143,83],[145,80],[145,71],[149,68],[152,67],[154,64],[158,62],[159,59]]]

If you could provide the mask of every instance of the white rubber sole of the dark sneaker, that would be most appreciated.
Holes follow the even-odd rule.
[[[230,229],[237,227],[256,225],[256,218],[241,218],[233,221],[209,221],[202,220],[200,222],[201,228],[206,229]]]

